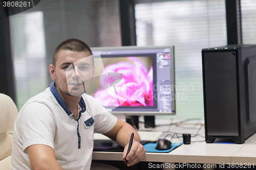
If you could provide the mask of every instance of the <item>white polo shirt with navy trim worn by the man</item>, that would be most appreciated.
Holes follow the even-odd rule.
[[[87,94],[79,102],[80,116],[76,120],[54,83],[19,111],[14,125],[11,169],[31,169],[27,148],[33,144],[53,148],[63,169],[90,169],[94,132],[106,133],[115,126],[117,118]]]

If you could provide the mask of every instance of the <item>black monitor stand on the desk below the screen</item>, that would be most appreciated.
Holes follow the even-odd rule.
[[[139,116],[126,116],[126,122],[139,129]],[[144,116],[144,127],[155,128],[155,116]]]

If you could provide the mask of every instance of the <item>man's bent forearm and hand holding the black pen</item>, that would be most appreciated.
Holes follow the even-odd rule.
[[[131,151],[126,157],[132,133],[134,133],[133,145]],[[145,158],[146,150],[143,145],[140,144],[139,134],[131,125],[123,122],[120,119],[117,119],[117,123],[114,128],[112,128],[108,133],[105,133],[104,135],[115,140],[117,144],[121,147],[124,147],[123,160],[126,158],[126,160],[128,161],[127,166],[132,166]]]

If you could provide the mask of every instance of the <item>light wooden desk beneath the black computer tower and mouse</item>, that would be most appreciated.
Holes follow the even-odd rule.
[[[163,131],[167,127],[161,127]],[[165,130],[164,130],[165,128]],[[178,133],[197,132],[199,129],[184,129],[171,127],[171,130]],[[204,136],[204,127],[200,130]],[[163,134],[163,137],[166,133]],[[193,140],[204,140],[203,137],[197,136]],[[172,142],[180,142],[177,138]],[[122,160],[122,153],[114,152],[93,152],[93,160]],[[169,153],[146,153],[142,160],[146,162],[180,162],[180,163],[203,163],[203,164],[228,164],[228,163],[254,163],[256,165],[256,134],[248,138],[243,144],[235,143],[206,143],[191,142],[182,144],[179,148]]]

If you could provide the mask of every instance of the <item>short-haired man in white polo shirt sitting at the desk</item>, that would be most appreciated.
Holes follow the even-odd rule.
[[[84,93],[95,77],[90,47],[69,39],[56,48],[49,71],[54,82],[28,100],[14,126],[12,169],[90,169],[94,132],[124,147],[132,166],[145,157],[136,130]],[[129,140],[134,141],[127,154]]]

